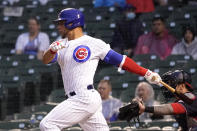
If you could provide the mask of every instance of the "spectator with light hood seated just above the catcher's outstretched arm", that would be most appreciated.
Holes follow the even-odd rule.
[[[147,82],[140,82],[135,89],[135,97],[141,98],[146,106],[158,105],[159,102],[154,99],[155,93],[153,87]],[[150,113],[140,115],[140,121],[152,121],[153,119],[162,118]]]

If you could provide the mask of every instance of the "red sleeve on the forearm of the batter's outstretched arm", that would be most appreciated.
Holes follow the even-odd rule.
[[[135,61],[126,57],[125,62],[123,64],[123,69],[129,72],[144,76],[148,69],[139,66]]]

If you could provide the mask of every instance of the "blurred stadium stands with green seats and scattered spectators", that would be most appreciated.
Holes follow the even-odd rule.
[[[50,43],[66,40],[52,22],[64,8],[84,13],[85,34],[160,75],[182,68],[197,87],[195,0],[1,0],[0,130],[39,130],[40,120],[65,99],[59,66],[41,62]],[[111,130],[178,130],[170,116],[144,113],[131,127],[117,121],[118,109],[132,98],[143,97],[146,105],[166,102],[160,87],[103,62],[94,80]]]

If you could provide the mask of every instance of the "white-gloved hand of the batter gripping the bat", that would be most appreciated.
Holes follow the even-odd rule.
[[[149,83],[160,85],[161,77],[158,73],[148,70],[144,77]]]

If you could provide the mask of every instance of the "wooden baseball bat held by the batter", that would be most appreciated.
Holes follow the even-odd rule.
[[[166,87],[170,92],[172,92],[173,94],[175,94],[177,97],[179,97],[182,101],[184,101],[186,104],[191,105],[193,103],[193,100],[188,98],[186,95],[184,95],[183,93],[177,92],[174,88],[172,88],[170,85],[166,84],[163,81],[160,81],[160,83]]]

